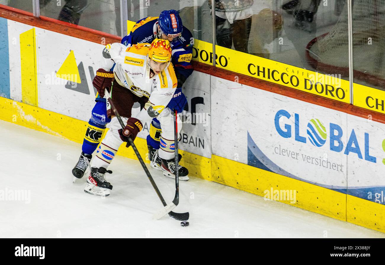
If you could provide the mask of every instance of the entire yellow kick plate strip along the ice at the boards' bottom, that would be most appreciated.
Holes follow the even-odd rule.
[[[77,143],[82,143],[88,126],[87,122],[2,97],[0,97],[0,119]],[[135,142],[142,158],[149,163],[146,139],[136,138]],[[136,159],[132,148],[122,147],[117,154]],[[385,233],[385,206],[381,204],[217,155],[212,155],[210,159],[183,150],[180,150],[180,154],[183,156],[181,164],[189,169],[191,176],[215,181],[259,196],[264,196],[264,191],[271,188],[296,190],[296,203],[281,202]]]

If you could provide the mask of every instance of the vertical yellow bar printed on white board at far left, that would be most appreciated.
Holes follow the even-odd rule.
[[[39,106],[37,95],[37,56],[35,28],[20,34],[22,101]]]

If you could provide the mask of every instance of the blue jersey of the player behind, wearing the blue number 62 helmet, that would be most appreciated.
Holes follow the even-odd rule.
[[[122,44],[131,46],[133,44],[151,43],[154,41],[154,39],[157,38],[158,18],[159,17],[146,17],[138,20],[130,34],[123,37]],[[193,45],[194,38],[190,30],[183,26],[182,36],[176,41],[171,42],[171,62],[174,65],[177,77],[182,75],[184,79],[187,79],[191,75],[193,71],[191,65]]]

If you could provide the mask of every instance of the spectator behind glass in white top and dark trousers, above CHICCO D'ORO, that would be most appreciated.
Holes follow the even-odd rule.
[[[212,0],[208,0],[212,9]],[[215,0],[216,41],[219,46],[248,53],[253,0]],[[226,27],[226,21],[229,28]]]

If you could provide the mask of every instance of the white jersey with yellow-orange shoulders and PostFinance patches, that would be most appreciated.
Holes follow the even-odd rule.
[[[136,116],[142,124],[162,115],[162,110],[168,105],[177,87],[177,78],[171,62],[161,73],[150,78],[147,63],[149,48],[148,43],[128,48],[121,43],[112,43],[103,50],[103,69],[110,71],[115,64],[115,82],[139,97],[149,98],[148,103]]]

